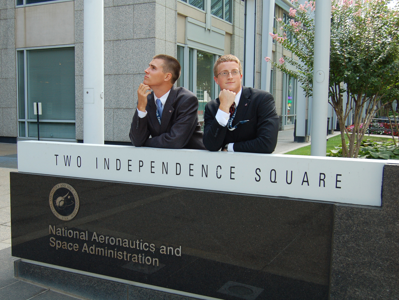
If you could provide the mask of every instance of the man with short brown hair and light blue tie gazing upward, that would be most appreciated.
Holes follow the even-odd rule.
[[[205,149],[198,122],[198,99],[189,90],[174,86],[180,70],[177,59],[160,54],[144,71],[129,133],[134,146]]]

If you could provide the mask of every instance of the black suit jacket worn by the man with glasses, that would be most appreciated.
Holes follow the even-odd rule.
[[[234,143],[235,152],[272,153],[277,144],[279,116],[273,95],[256,88],[242,87],[240,102],[233,121],[249,120],[230,131],[221,126],[215,116],[219,98],[205,106],[203,144],[209,151],[218,151],[228,143]]]

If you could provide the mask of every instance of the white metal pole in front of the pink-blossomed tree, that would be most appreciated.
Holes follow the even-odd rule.
[[[312,142],[310,146],[310,155],[315,156],[326,156],[330,20],[331,1],[316,1],[314,16]]]

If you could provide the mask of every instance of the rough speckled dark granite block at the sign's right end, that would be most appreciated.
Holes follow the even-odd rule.
[[[381,208],[335,204],[331,300],[399,298],[398,178],[386,164]]]

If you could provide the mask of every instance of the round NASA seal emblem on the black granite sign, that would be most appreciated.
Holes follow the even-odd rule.
[[[63,221],[72,220],[79,211],[79,196],[67,183],[56,184],[51,189],[49,203],[53,214]]]

